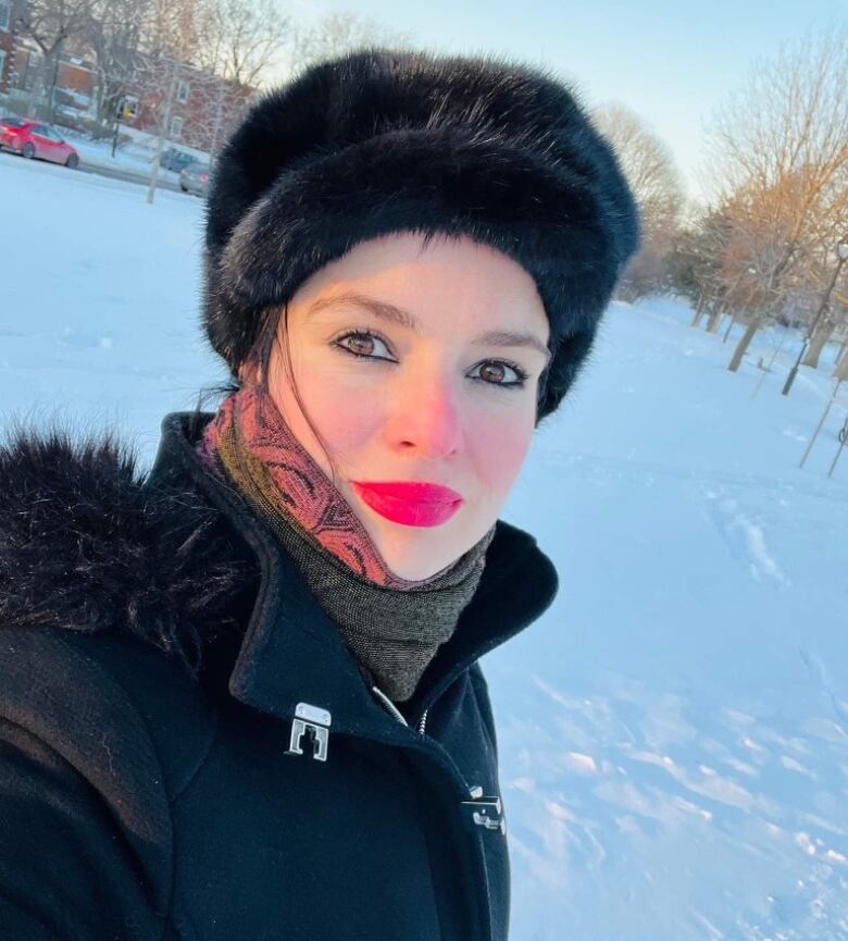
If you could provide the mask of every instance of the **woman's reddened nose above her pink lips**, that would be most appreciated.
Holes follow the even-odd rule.
[[[458,392],[446,375],[410,377],[388,393],[386,433],[392,447],[444,459],[462,446]]]

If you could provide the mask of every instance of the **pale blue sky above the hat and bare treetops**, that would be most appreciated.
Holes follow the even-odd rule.
[[[702,199],[703,128],[758,60],[809,29],[848,27],[848,0],[288,0],[300,22],[351,10],[438,52],[503,53],[554,69],[595,107],[634,109]]]

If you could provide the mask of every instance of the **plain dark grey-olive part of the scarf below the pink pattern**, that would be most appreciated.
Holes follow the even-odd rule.
[[[241,494],[291,555],[322,609],[382,692],[395,702],[409,699],[477,589],[495,527],[433,579],[402,591],[385,587],[354,572],[272,504],[263,492],[266,481],[260,485],[254,480],[262,469],[232,438],[222,447],[228,453],[225,460],[217,455],[219,475]],[[240,486],[226,470],[234,462]]]

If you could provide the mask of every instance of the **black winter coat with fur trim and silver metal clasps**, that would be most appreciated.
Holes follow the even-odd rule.
[[[209,418],[167,416],[147,476],[111,437],[0,453],[0,938],[504,941],[477,658],[550,605],[550,560],[499,521],[394,715],[198,462]]]

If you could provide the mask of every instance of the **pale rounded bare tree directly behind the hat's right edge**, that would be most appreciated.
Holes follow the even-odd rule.
[[[665,285],[685,203],[683,184],[671,150],[636,112],[609,104],[593,120],[615,148],[639,207],[641,247],[620,282],[620,294],[633,300]]]

